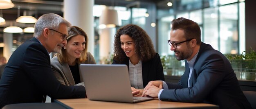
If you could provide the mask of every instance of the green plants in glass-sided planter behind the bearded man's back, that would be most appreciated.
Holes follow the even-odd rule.
[[[255,80],[256,52],[252,48],[249,52],[244,51],[240,55],[226,54],[225,56],[229,59],[238,79],[241,78],[240,74],[242,74],[246,80]]]

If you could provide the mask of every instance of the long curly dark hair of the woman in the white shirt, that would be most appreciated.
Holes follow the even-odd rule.
[[[155,57],[152,40],[141,27],[128,24],[121,27],[115,34],[114,58],[117,62],[124,61],[126,54],[121,48],[120,36],[129,35],[135,41],[135,52],[141,61],[148,61]]]

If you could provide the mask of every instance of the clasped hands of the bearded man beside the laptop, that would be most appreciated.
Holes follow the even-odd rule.
[[[144,91],[142,93],[143,97],[154,97],[157,98],[158,93],[160,89],[163,88],[163,82],[162,81],[150,81],[148,82],[148,85],[144,88]]]

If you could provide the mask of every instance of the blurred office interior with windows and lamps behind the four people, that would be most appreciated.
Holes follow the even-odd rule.
[[[0,3],[1,1],[6,0],[0,0]],[[78,20],[79,24],[72,24],[84,26],[82,28],[89,33],[89,51],[92,52],[97,63],[110,61],[114,35],[126,24],[137,24],[144,28],[153,40],[155,50],[161,56],[173,55],[167,40],[170,38],[170,23],[178,17],[197,22],[201,27],[202,41],[211,44],[223,54],[241,54],[251,47],[256,49],[254,43],[256,15],[253,12],[256,10],[255,0],[11,0],[11,2],[14,4],[12,8],[3,9],[0,6],[0,17],[5,20],[0,22],[0,55],[7,59],[18,46],[33,37],[33,33],[26,33],[24,28],[34,27],[34,23],[19,23],[16,19],[22,15],[38,19],[45,13],[56,13],[71,23],[77,23]],[[77,4],[81,9],[72,11]],[[86,9],[88,6],[92,8]],[[115,12],[110,12],[113,10]],[[88,19],[89,22],[83,22]],[[114,20],[115,25],[108,26],[106,20]],[[4,32],[9,26],[18,26],[23,31]]]

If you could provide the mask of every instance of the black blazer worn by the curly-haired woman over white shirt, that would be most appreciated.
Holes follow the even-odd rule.
[[[126,59],[123,62],[119,62],[119,63],[117,63],[117,61],[115,61],[115,59],[113,59],[112,64],[126,64],[128,66],[128,70],[129,70],[129,58],[128,57],[126,57]],[[164,81],[163,66],[162,66],[160,56],[158,53],[156,53],[156,55],[153,59],[150,59],[148,61],[142,61],[143,87],[146,87],[146,85],[148,85],[148,82],[155,81],[155,80]]]

